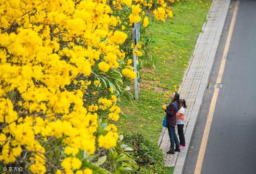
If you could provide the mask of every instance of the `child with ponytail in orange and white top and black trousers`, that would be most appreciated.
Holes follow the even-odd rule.
[[[183,127],[184,127],[184,123],[185,123],[184,108],[187,108],[187,106],[186,106],[186,101],[184,99],[178,100],[178,104],[180,106],[180,109],[178,110],[178,112],[176,114],[178,135],[180,138],[180,149],[184,149],[184,148],[186,148],[186,142],[185,142],[184,131],[183,131]]]

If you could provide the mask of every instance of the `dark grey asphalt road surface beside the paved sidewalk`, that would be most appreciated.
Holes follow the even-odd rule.
[[[233,15],[228,12],[210,76],[215,83]],[[256,0],[240,0],[202,164],[202,174],[256,174]],[[213,89],[204,94],[184,173],[194,173]]]

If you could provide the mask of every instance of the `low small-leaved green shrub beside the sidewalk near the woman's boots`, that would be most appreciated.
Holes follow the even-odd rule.
[[[125,134],[125,144],[133,147],[138,169],[134,173],[164,173],[164,154],[159,146],[141,133]]]

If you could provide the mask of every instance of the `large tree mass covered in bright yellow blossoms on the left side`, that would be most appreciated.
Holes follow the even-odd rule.
[[[78,174],[136,168],[127,153],[132,149],[122,144],[114,125],[120,113],[117,96],[131,97],[123,80],[136,77],[121,49],[128,35],[115,12],[123,6],[132,6],[128,18],[138,22],[141,6],[151,5],[137,0],[0,2],[1,166]],[[148,19],[143,20],[146,27]]]

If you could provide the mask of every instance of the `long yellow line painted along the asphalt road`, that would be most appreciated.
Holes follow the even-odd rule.
[[[234,13],[233,13],[233,17],[232,17],[232,20],[231,20],[230,28],[229,28],[229,31],[228,31],[228,37],[227,37],[226,45],[225,45],[225,48],[224,48],[224,52],[223,52],[223,56],[222,56],[222,60],[221,60],[221,64],[220,64],[220,70],[219,70],[219,73],[218,73],[216,83],[220,83],[221,79],[222,79],[222,75],[223,75],[223,72],[224,72],[224,67],[225,67],[225,64],[226,64],[226,58],[228,56],[228,49],[229,49],[229,46],[230,46],[230,40],[231,40],[231,37],[232,37],[234,24],[235,24],[235,21],[236,21],[237,11],[238,11],[238,1],[236,2],[236,6],[235,6],[235,9],[234,9]],[[205,150],[206,150],[206,145],[207,145],[207,141],[208,141],[208,137],[209,137],[209,132],[210,132],[211,124],[212,124],[212,118],[213,118],[214,109],[215,109],[215,106],[216,106],[216,101],[217,101],[217,98],[218,98],[218,94],[219,94],[219,88],[215,88],[213,96],[212,96],[212,101],[211,101],[211,104],[210,104],[210,110],[209,110],[209,113],[208,113],[206,125],[205,125],[205,128],[204,128],[204,134],[203,134],[203,138],[202,138],[202,142],[201,142],[201,146],[200,146],[200,150],[199,150],[199,154],[198,154],[194,174],[200,174],[201,173],[202,164],[203,164],[203,160],[204,160],[204,154],[205,154]]]

